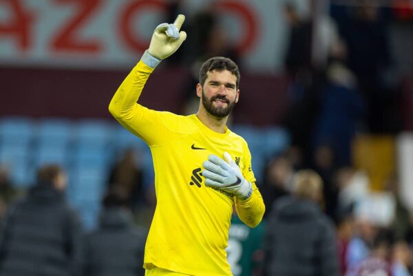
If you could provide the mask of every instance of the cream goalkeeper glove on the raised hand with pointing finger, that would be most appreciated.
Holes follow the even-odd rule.
[[[187,39],[187,33],[179,31],[185,21],[185,16],[179,14],[173,24],[162,23],[153,31],[148,52],[157,59],[166,59],[176,52],[182,42]]]

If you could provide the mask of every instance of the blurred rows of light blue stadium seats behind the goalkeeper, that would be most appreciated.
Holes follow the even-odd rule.
[[[251,125],[233,125],[231,129],[248,142],[260,184],[266,161],[288,147],[287,132],[277,127]],[[39,166],[61,165],[68,172],[67,198],[80,211],[88,229],[96,226],[109,169],[128,147],[140,153],[137,161],[144,171],[144,187],[150,187],[154,175],[149,147],[118,123],[13,116],[0,120],[0,162],[10,168],[12,182],[17,187],[28,188]]]

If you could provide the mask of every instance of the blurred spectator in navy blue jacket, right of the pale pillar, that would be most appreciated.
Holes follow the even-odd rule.
[[[351,164],[352,140],[362,125],[365,109],[346,59],[346,45],[336,43],[326,69],[326,83],[321,87],[320,112],[313,134],[315,147],[326,143],[332,147],[338,166]]]

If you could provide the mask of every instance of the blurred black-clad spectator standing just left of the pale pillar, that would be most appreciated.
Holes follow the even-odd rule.
[[[284,61],[290,79],[290,107],[284,125],[290,131],[291,144],[303,153],[303,164],[308,167],[308,140],[319,110],[319,87],[324,83],[324,74],[319,74],[311,66],[311,21],[304,19],[291,3],[284,7],[284,15],[290,32]]]

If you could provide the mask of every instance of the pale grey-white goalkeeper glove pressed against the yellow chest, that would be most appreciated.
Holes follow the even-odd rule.
[[[233,193],[242,200],[248,199],[253,193],[251,183],[244,179],[229,153],[224,152],[224,159],[211,154],[204,162],[205,185]]]

